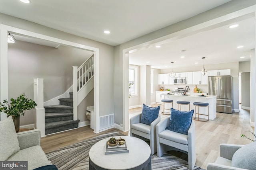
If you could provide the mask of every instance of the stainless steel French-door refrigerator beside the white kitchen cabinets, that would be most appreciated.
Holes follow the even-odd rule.
[[[232,113],[232,86],[232,76],[208,77],[208,95],[217,96],[217,112]]]

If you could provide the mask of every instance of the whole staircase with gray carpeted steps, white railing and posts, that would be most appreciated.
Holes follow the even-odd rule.
[[[44,115],[41,115],[44,116],[45,122],[40,124],[40,119],[42,119],[40,117],[36,123],[36,125],[44,128],[42,134],[48,135],[78,128],[80,120],[77,120],[77,107],[94,88],[94,55],[81,66],[73,66],[73,76],[73,85],[64,94],[44,103],[38,103],[38,106],[40,105],[37,108],[38,113],[44,108]],[[43,101],[42,82],[38,83],[38,79],[34,82],[34,92],[36,94],[34,98],[41,99],[40,101]],[[70,97],[67,98],[68,96]]]

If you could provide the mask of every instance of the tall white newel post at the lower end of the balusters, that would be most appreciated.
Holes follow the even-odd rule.
[[[73,66],[73,120],[77,120],[77,68]]]

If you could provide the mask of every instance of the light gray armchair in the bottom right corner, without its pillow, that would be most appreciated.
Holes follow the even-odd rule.
[[[245,170],[231,166],[231,160],[236,150],[244,145],[220,144],[220,156],[215,163],[208,163],[207,170]]]

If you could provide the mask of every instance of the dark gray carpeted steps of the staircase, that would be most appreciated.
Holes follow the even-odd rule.
[[[45,135],[78,128],[79,120],[73,120],[73,92],[70,92],[70,98],[59,101],[59,105],[44,106]]]

